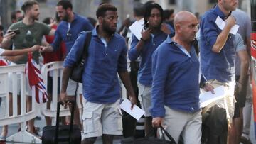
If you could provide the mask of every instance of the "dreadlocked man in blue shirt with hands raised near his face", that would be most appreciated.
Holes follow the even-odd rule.
[[[131,61],[141,57],[138,72],[138,88],[139,101],[141,101],[142,109],[145,111],[145,134],[153,136],[154,129],[152,128],[152,118],[149,113],[151,106],[151,55],[154,50],[171,34],[171,28],[166,23],[163,23],[163,9],[159,4],[147,4],[144,13],[144,23],[146,28],[142,32],[142,38],[138,40],[132,35],[131,49],[128,56]]]

